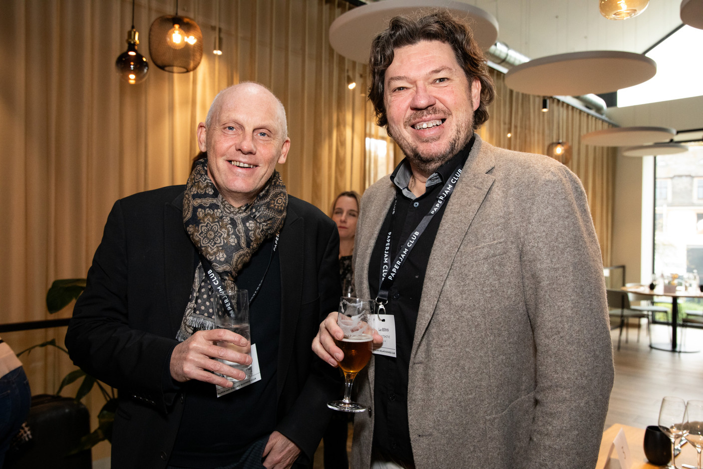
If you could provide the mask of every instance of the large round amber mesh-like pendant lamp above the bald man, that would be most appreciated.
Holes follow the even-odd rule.
[[[202,59],[202,31],[192,18],[176,14],[160,16],[149,30],[149,55],[161,70],[192,72]]]

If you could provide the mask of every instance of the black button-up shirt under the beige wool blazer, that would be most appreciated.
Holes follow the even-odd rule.
[[[407,158],[396,167],[391,175],[391,180],[397,187],[395,216],[392,216],[394,205],[392,203],[383,221],[368,265],[368,281],[372,298],[378,294],[384,247],[391,226],[393,230],[391,259],[395,259],[399,245],[405,243],[423,217],[430,212],[444,183],[458,167],[463,167],[473,142],[472,138],[463,150],[427,179],[425,193],[418,198],[408,190],[411,170]],[[396,357],[375,355],[373,457],[408,467],[414,465],[408,429],[408,366],[425,271],[447,203],[448,201],[445,201],[422,236],[416,241],[415,247],[399,269],[389,290],[388,304],[385,307],[386,314],[392,314],[395,319]]]

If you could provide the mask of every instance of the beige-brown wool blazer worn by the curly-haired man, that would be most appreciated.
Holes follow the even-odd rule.
[[[366,190],[356,292],[395,188]],[[370,465],[373,359],[355,385],[352,464]],[[418,468],[595,466],[613,381],[600,247],[579,179],[476,136],[441,220],[408,383]]]

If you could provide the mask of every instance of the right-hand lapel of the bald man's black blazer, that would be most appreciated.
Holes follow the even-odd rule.
[[[280,340],[278,342],[278,371],[276,373],[278,395],[283,390],[285,376],[290,366],[290,351],[295,342],[295,326],[300,314],[302,275],[300,266],[304,259],[304,219],[298,217],[288,205],[285,222],[278,241],[280,256]],[[284,352],[285,351],[285,352]]]

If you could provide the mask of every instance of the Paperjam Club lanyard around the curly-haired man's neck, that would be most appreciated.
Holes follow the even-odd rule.
[[[381,259],[381,274],[378,286],[378,295],[376,296],[376,303],[378,304],[378,314],[382,314],[385,311],[385,304],[388,303],[388,293],[390,291],[390,288],[393,285],[395,277],[398,274],[398,271],[400,270],[401,266],[405,264],[405,261],[406,259],[408,259],[410,252],[415,247],[417,240],[420,239],[420,236],[422,236],[422,234],[425,232],[427,225],[429,225],[430,221],[432,221],[432,217],[434,217],[434,215],[439,212],[441,206],[444,205],[451,193],[453,193],[454,188],[456,187],[456,183],[459,180],[459,176],[461,176],[462,167],[463,165],[460,165],[456,169],[454,174],[449,178],[449,181],[446,181],[446,184],[444,184],[444,187],[442,188],[441,192],[439,193],[439,195],[437,195],[437,202],[432,205],[430,212],[427,212],[425,217],[420,220],[420,223],[413,230],[411,235],[408,236],[406,242],[401,245],[394,261],[391,263],[391,237],[393,234],[393,226],[395,222],[396,203],[398,202],[398,193],[396,191],[396,195],[393,199],[393,211],[391,212],[391,226],[386,238],[386,245],[383,252],[383,258]]]

